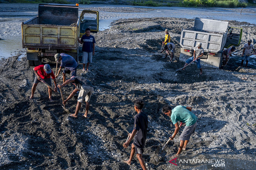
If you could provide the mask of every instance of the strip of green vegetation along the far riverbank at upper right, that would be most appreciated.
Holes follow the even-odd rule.
[[[132,1],[132,5],[140,6],[179,6],[179,7],[222,7],[222,8],[236,8],[246,7],[246,3],[239,3],[238,0],[183,0],[176,3],[164,3],[159,1]]]

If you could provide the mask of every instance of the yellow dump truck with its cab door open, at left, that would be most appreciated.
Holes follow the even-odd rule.
[[[78,62],[78,37],[90,28],[99,30],[99,12],[83,10],[78,16],[78,4],[39,4],[38,16],[22,22],[22,47],[27,48],[30,66],[40,65],[42,58],[54,60],[56,53],[66,53]]]

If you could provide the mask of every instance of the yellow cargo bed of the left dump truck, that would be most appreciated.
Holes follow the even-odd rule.
[[[76,49],[78,25],[78,6],[39,4],[38,16],[22,22],[22,47]]]

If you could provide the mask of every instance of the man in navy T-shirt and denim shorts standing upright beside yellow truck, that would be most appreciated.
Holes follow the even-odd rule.
[[[83,70],[82,71],[89,71],[88,67],[89,64],[92,63],[92,55],[94,55],[94,48],[95,48],[95,38],[90,35],[91,30],[90,28],[85,29],[85,35],[82,36],[81,41],[79,38],[77,39],[80,44],[83,44]],[[85,70],[85,64],[86,70]]]

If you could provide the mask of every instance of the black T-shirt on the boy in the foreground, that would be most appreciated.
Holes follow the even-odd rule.
[[[148,128],[148,115],[146,115],[143,112],[140,112],[138,115],[134,117],[134,126],[133,126],[133,129],[137,130],[134,137],[133,144],[140,149],[143,149],[145,146],[147,128]]]

